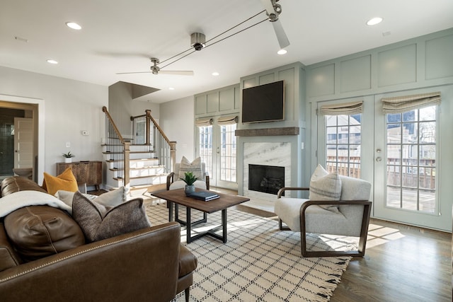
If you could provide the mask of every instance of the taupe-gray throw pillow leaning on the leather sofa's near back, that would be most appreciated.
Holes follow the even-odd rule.
[[[131,199],[116,207],[88,199],[74,193],[72,216],[79,223],[88,242],[111,238],[151,226],[143,206],[143,199]]]

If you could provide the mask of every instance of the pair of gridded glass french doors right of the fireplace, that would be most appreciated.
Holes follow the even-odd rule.
[[[360,115],[318,115],[317,160],[328,170],[372,182],[372,216],[449,229],[451,219],[442,217],[440,203],[439,105],[384,113],[382,98],[394,95],[398,94],[362,98]],[[348,100],[320,102],[318,109],[345,102]],[[446,203],[451,213],[452,202]]]

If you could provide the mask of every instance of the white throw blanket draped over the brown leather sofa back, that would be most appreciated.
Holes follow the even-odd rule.
[[[28,206],[50,206],[67,211],[72,215],[72,208],[57,197],[39,191],[19,191],[0,198],[0,218],[16,209]]]

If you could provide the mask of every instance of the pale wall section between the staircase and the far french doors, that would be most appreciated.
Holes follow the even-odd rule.
[[[154,115],[153,115],[154,116]],[[176,141],[176,162],[185,156],[195,157],[195,119],[193,97],[181,98],[160,106],[160,124],[165,135]]]

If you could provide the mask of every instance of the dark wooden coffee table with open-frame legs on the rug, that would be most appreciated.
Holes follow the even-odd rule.
[[[199,191],[206,191],[201,189],[196,189],[197,192]],[[203,202],[201,200],[190,198],[185,196],[184,189],[178,190],[170,190],[170,191],[162,191],[152,193],[155,197],[159,197],[161,199],[165,199],[168,204],[168,221],[173,221],[173,203],[175,204],[175,221],[178,221],[182,225],[186,226],[186,233],[187,233],[187,243],[191,243],[193,240],[201,238],[202,236],[212,236],[219,240],[222,240],[223,243],[226,243],[226,209],[236,204],[241,204],[242,202],[248,202],[249,198],[242,197],[242,196],[235,196],[229,194],[222,194],[217,193],[219,198],[210,200],[209,202]],[[178,219],[178,205],[185,206],[186,209],[186,221],[181,221]],[[203,212],[203,219],[198,221],[191,221],[190,217],[190,210],[196,209],[198,211]],[[214,213],[216,211],[222,211],[222,224],[220,226],[216,226],[211,228],[208,231],[204,231],[202,233],[197,233],[195,236],[191,236],[192,227],[198,223],[205,223],[207,222],[207,214]],[[215,233],[222,229],[222,236]]]

